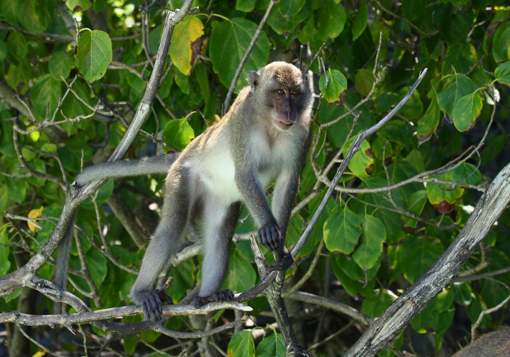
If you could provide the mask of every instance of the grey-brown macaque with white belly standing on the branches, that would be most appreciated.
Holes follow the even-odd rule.
[[[218,291],[228,267],[234,229],[244,203],[258,239],[281,258],[271,269],[292,263],[285,234],[311,140],[313,84],[292,64],[273,62],[251,71],[223,119],[197,136],[180,154],[104,163],[78,175],[77,185],[108,177],[167,172],[161,218],[143,257],[131,299],[145,316],[161,320],[169,301],[154,283],[190,221],[201,223],[202,276],[195,307],[231,300]],[[275,181],[272,205],[265,187]]]

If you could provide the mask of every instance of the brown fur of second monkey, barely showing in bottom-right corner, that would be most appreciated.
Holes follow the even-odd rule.
[[[452,357],[508,357],[510,356],[510,327],[481,335]]]

